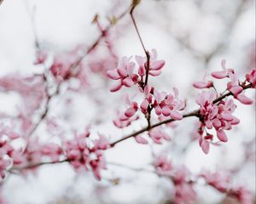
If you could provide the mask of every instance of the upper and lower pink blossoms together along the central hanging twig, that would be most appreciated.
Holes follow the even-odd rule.
[[[142,93],[143,100],[141,102],[134,101],[125,98],[127,108],[125,111],[118,114],[118,118],[113,121],[114,125],[119,128],[128,127],[131,122],[136,121],[139,118],[138,113],[143,113],[143,115],[150,121],[151,112],[154,111],[159,119],[172,118],[173,120],[181,120],[183,118],[179,111],[183,111],[185,103],[183,100],[178,99],[177,88],[173,88],[173,94],[167,94],[166,92],[159,92],[156,88],[146,84],[147,71],[150,76],[158,76],[161,73],[161,69],[165,65],[164,60],[157,59],[156,50],[153,49],[149,54],[150,58],[136,56],[136,62],[131,61],[131,57],[124,57],[121,59],[118,67],[116,69],[107,71],[109,78],[117,81],[110,91],[116,92],[120,88],[131,87],[132,85],[138,85],[139,92]],[[136,69],[137,68],[137,69]],[[137,70],[137,72],[135,71]],[[160,143],[160,139],[152,136],[155,135],[156,131],[150,131],[149,137],[151,137],[154,142]],[[159,130],[158,130],[158,133]],[[167,137],[159,137],[165,138]],[[146,144],[147,141],[141,136],[136,137],[137,142]]]

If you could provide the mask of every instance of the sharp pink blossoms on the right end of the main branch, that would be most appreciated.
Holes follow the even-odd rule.
[[[233,69],[227,69],[225,67],[225,60],[222,61],[223,71],[213,71],[212,77],[217,79],[229,78],[230,82],[227,82],[227,88],[235,99],[239,100],[244,105],[253,104],[253,100],[249,99],[243,90],[246,86],[255,88],[255,69],[246,75],[246,81],[241,83]],[[214,88],[212,81],[195,82],[195,88]],[[220,95],[221,96],[221,95]],[[228,138],[225,131],[230,130],[234,125],[237,125],[240,120],[233,116],[236,110],[236,105],[233,99],[218,99],[216,89],[210,89],[198,94],[196,103],[200,105],[199,117],[201,125],[197,131],[197,138],[199,138],[199,144],[204,153],[208,153],[210,144],[214,139],[211,133],[207,133],[207,129],[214,128],[217,138],[221,142],[227,142]],[[206,130],[206,134],[204,134]]]

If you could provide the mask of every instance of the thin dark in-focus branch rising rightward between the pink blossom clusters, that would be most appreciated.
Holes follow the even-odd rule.
[[[241,87],[242,87],[244,90],[246,90],[247,88],[252,88],[252,83],[249,83],[249,84],[247,84],[246,86],[241,86]],[[229,93],[227,93],[227,94],[220,95],[217,99],[213,100],[212,103],[213,103],[213,104],[216,104],[216,103],[218,103],[219,101],[221,101],[222,99],[224,99],[224,98],[226,98],[226,97],[228,97],[228,96],[230,96],[230,95],[233,95],[233,96],[234,96],[234,94],[232,94],[231,92],[229,92]],[[200,117],[200,110],[197,109],[197,110],[191,111],[191,112],[189,112],[189,113],[187,113],[187,114],[183,114],[183,118],[185,118],[185,117],[191,117],[191,116]],[[110,144],[110,146],[113,147],[115,144],[118,144],[118,143],[120,143],[120,142],[122,142],[122,141],[124,141],[124,140],[126,140],[126,139],[130,139],[130,138],[136,137],[138,134],[144,133],[144,132],[146,132],[146,131],[149,131],[150,129],[153,129],[154,127],[159,127],[159,126],[161,126],[161,125],[164,125],[164,124],[167,124],[167,123],[170,123],[170,122],[174,122],[174,121],[176,121],[176,120],[170,118],[170,119],[168,119],[168,120],[166,120],[166,121],[157,122],[157,123],[155,123],[154,125],[151,125],[151,126],[148,126],[148,127],[144,127],[143,129],[138,130],[138,131],[135,132],[135,133],[131,133],[131,134],[125,136],[125,137],[122,138],[122,139],[118,139],[118,140],[114,141],[113,143]]]

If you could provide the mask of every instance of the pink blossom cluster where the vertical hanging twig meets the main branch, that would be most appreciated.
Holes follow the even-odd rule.
[[[127,109],[124,112],[119,112],[118,118],[113,121],[113,124],[116,127],[128,127],[131,125],[131,122],[136,121],[139,118],[139,112],[147,118],[151,115],[153,110],[155,116],[159,117],[159,120],[163,120],[163,118],[181,120],[183,118],[183,115],[179,111],[183,111],[185,103],[183,100],[178,99],[177,88],[173,88],[174,94],[158,92],[155,88],[149,85],[141,91],[144,99],[140,104],[136,101],[132,101],[128,96],[125,97]],[[156,144],[161,144],[162,139],[171,139],[169,135],[162,130],[162,127],[155,127],[148,131],[148,136]],[[144,139],[142,135],[137,135],[135,139],[137,143],[148,144],[148,140]]]

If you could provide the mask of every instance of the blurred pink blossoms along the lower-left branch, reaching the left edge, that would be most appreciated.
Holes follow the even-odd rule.
[[[108,139],[99,134],[98,139],[90,139],[87,129],[74,139],[64,139],[63,147],[59,144],[43,144],[38,139],[27,139],[26,146],[15,148],[13,141],[20,135],[10,127],[0,124],[0,182],[9,168],[35,171],[40,163],[58,163],[68,161],[76,170],[92,170],[97,179],[101,179],[101,170],[106,168],[103,150],[110,146]]]

